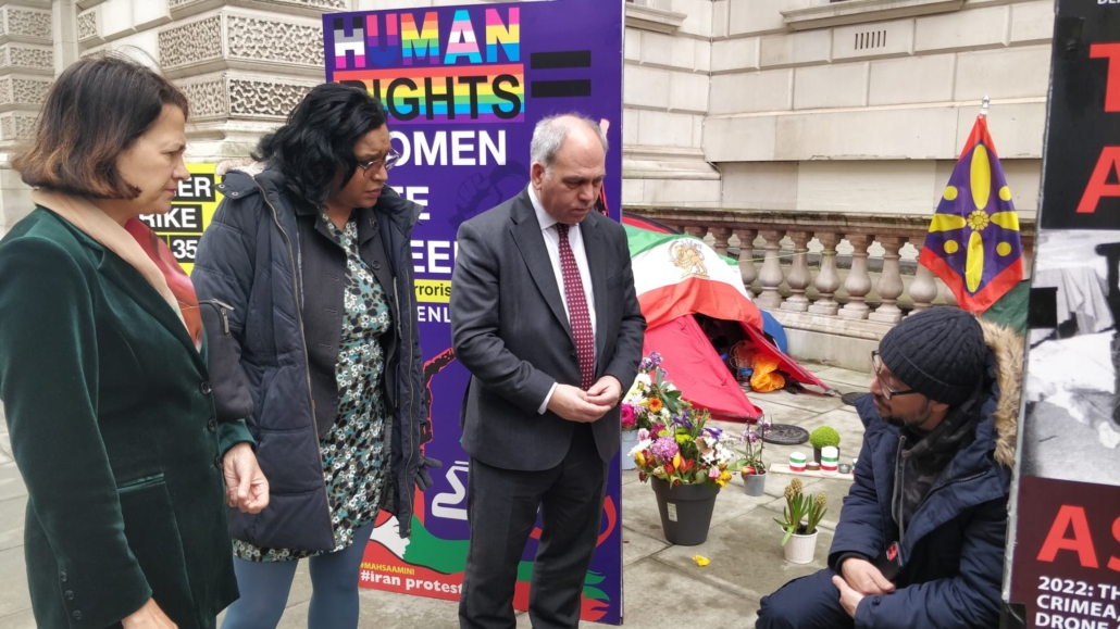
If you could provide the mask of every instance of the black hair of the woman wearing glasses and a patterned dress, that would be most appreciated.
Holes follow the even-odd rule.
[[[381,101],[365,90],[324,83],[296,105],[283,126],[261,138],[253,159],[278,168],[293,195],[321,207],[338,173],[345,182],[357,170],[354,144],[388,118]]]

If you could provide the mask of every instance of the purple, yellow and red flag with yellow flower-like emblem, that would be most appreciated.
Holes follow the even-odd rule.
[[[1019,215],[983,116],[961,151],[918,260],[962,310],[977,314],[1023,280]]]

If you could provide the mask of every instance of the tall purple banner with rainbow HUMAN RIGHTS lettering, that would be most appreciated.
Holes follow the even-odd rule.
[[[467,456],[459,407],[467,370],[451,350],[449,308],[459,225],[529,182],[529,144],[541,119],[578,112],[600,121],[613,150],[600,210],[620,218],[623,1],[477,4],[328,13],[327,81],[361,86],[390,114],[401,160],[390,178],[423,206],[413,232],[417,302],[435,436],[444,462],[416,496],[411,541],[382,514],[362,565],[363,586],[458,600],[466,565]],[[582,618],[622,622],[622,482],[610,468],[599,545],[584,586]],[[536,538],[522,555],[514,597],[529,602]]]

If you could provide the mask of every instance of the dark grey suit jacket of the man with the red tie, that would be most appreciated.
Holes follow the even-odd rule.
[[[591,213],[580,224],[596,317],[596,379],[625,393],[642,359],[645,318],[623,226]],[[470,372],[459,417],[463,448],[511,470],[560,464],[576,424],[538,414],[552,383],[579,386],[579,360],[528,189],[459,226],[451,280],[451,342]],[[619,409],[591,424],[599,457],[618,450]]]

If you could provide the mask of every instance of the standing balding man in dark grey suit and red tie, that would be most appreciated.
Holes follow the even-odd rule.
[[[645,332],[626,233],[592,212],[606,151],[590,120],[541,121],[530,186],[459,227],[451,340],[472,374],[460,416],[470,456],[463,629],[516,626],[517,564],[538,509],[530,618],[535,629],[579,623],[618,402]]]

